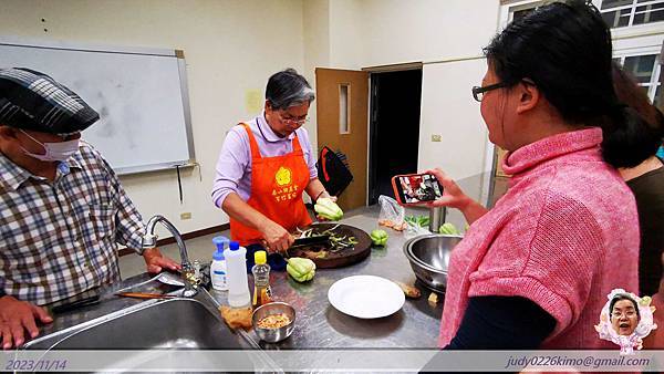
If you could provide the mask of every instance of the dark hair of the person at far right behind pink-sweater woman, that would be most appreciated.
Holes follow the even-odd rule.
[[[632,154],[625,154],[618,147],[610,147],[609,149],[613,152],[611,152],[609,157],[625,159],[625,162],[631,160],[632,166],[636,166],[639,165],[637,159],[654,155],[662,145],[664,115],[651,103],[643,87],[639,86],[630,72],[624,71],[615,62],[613,62],[612,67],[613,87],[615,89],[618,98],[630,106],[635,112],[634,115],[640,116],[647,126],[634,128],[637,132],[631,136],[631,138],[636,139],[641,144],[641,147],[633,149]]]

